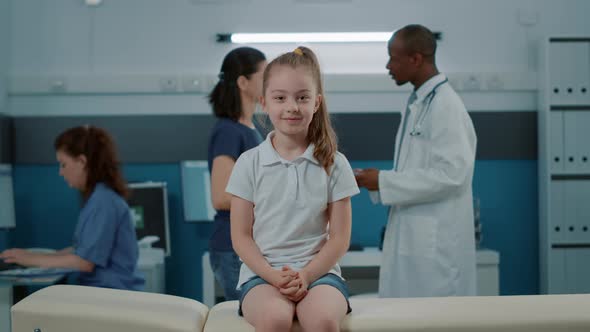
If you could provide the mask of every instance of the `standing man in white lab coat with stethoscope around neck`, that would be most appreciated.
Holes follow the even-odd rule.
[[[391,207],[379,295],[475,295],[473,124],[436,68],[430,30],[409,25],[396,31],[388,52],[391,77],[414,86],[397,131],[394,168],[356,170],[371,199]]]

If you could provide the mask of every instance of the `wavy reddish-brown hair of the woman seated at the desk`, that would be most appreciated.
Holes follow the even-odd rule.
[[[53,143],[55,151],[62,151],[70,157],[86,157],[86,185],[82,197],[87,200],[96,184],[104,182],[123,198],[129,189],[123,179],[115,143],[112,137],[101,128],[80,126],[70,128],[59,134]]]

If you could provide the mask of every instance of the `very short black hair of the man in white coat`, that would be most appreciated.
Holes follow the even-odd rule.
[[[410,24],[394,33],[396,38],[401,38],[408,54],[419,53],[434,63],[436,54],[436,36],[430,29],[420,24]]]

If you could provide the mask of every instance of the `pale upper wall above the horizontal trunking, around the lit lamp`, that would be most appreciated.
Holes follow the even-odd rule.
[[[232,48],[223,32],[391,31],[422,23],[443,33],[438,63],[447,72],[535,71],[545,34],[588,34],[590,2],[570,0],[12,1],[13,74],[30,72],[211,72]],[[532,25],[521,17],[538,18]],[[260,46],[269,56],[294,45]],[[385,45],[314,45],[326,72],[383,72]],[[90,52],[90,53],[89,53]]]

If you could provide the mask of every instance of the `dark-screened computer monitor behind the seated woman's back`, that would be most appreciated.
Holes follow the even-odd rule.
[[[130,183],[131,194],[127,200],[131,219],[135,225],[137,240],[157,236],[160,240],[154,248],[162,248],[170,255],[170,231],[168,227],[168,195],[165,182]]]

